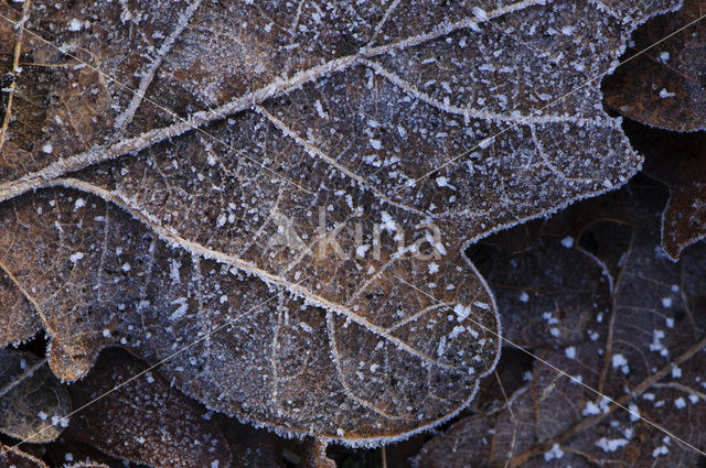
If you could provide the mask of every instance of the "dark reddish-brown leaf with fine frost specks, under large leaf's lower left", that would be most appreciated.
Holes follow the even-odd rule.
[[[66,437],[153,467],[227,467],[231,453],[225,438],[199,405],[157,372],[128,381],[147,368],[124,350],[105,350],[93,370],[69,387],[74,405],[83,410],[72,420]]]

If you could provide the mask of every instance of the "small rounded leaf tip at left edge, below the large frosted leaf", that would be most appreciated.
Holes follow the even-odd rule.
[[[44,443],[68,425],[68,394],[45,360],[0,349],[0,432]]]

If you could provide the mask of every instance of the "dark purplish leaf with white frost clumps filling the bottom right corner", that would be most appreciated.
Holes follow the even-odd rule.
[[[666,259],[657,248],[655,216],[664,198],[661,193],[654,196],[654,189],[648,194],[633,189],[652,200],[642,207],[648,209],[643,216],[652,220],[629,232],[630,247],[616,279],[610,314],[597,316],[580,344],[542,355],[550,366],[537,362],[531,382],[506,404],[462,420],[426,444],[418,458],[420,467],[693,467],[703,462],[681,440],[702,450],[706,447],[699,429],[706,417],[706,246],[689,249],[678,264]],[[536,313],[520,304],[515,311]],[[575,380],[559,374],[559,369]],[[614,399],[630,413],[579,382]]]

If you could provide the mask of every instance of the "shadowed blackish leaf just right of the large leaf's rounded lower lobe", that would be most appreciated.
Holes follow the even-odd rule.
[[[494,241],[473,246],[469,254],[495,293],[510,342],[531,349],[577,344],[595,317],[607,313],[611,277],[573,237],[543,237],[515,254]]]

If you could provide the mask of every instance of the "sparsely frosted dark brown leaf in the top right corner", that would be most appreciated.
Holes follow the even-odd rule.
[[[706,129],[706,23],[704,0],[684,0],[682,9],[638,28],[627,57],[644,51],[606,78],[606,104],[653,127],[695,131]]]

